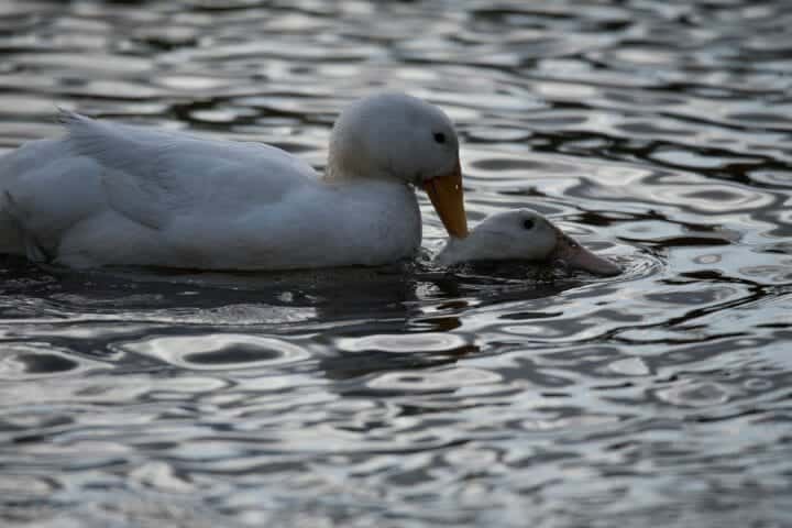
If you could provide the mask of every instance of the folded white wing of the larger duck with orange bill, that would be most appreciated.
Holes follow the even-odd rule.
[[[317,173],[271,145],[95,121],[62,112],[66,142],[101,169],[108,205],[152,229],[177,217],[235,218],[316,185]]]

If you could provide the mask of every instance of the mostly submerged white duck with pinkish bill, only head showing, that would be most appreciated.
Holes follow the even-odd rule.
[[[528,261],[595,275],[618,275],[615,263],[595,255],[530,209],[484,219],[464,239],[450,238],[435,263],[452,266],[475,261]]]

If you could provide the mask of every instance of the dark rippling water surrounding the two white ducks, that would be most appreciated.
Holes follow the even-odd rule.
[[[626,273],[4,258],[0,525],[791,526],[790,26],[785,1],[3,0],[0,151],[57,105],[321,168],[342,105],[402,89],[457,122],[473,220],[534,207]]]

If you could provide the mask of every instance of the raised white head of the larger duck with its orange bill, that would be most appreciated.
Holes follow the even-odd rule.
[[[468,235],[457,132],[448,116],[426,101],[380,94],[350,105],[332,130],[328,178],[422,187],[449,235]]]

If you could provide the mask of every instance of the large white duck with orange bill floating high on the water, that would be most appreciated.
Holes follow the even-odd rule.
[[[420,246],[414,186],[450,235],[468,234],[453,125],[406,95],[343,111],[323,178],[270,145],[63,122],[66,138],[0,158],[0,252],[72,267],[378,265]]]

